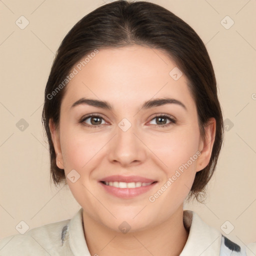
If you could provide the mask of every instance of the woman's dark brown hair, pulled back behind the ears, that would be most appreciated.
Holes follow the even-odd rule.
[[[45,87],[42,122],[49,142],[50,171],[55,185],[66,184],[64,170],[57,167],[49,119],[59,124],[65,80],[73,65],[85,54],[103,47],[138,44],[164,50],[185,74],[196,103],[201,135],[210,117],[216,119],[215,141],[208,165],[196,172],[189,198],[204,194],[216,167],[223,139],[223,120],[217,98],[216,79],[207,50],[196,32],[169,10],[150,2],[124,0],[105,4],[80,19],[62,40]],[[62,88],[63,87],[63,88]],[[55,93],[52,93],[55,91]]]

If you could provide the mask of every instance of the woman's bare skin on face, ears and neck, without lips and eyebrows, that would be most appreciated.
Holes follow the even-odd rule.
[[[175,66],[158,49],[138,45],[99,49],[67,85],[59,128],[49,122],[57,166],[65,175],[72,169],[80,175],[74,183],[67,178],[67,183],[83,208],[91,255],[179,255],[184,247],[188,232],[182,222],[183,201],[196,171],[209,162],[215,119],[210,118],[203,139],[185,75],[176,81],[169,75]],[[82,97],[108,101],[113,108],[71,107]],[[181,101],[186,109],[174,103],[140,109],[144,101],[163,97]],[[100,126],[79,123],[88,114],[100,114]],[[176,123],[166,118],[163,124],[170,125],[160,127],[155,114],[169,114]],[[123,118],[131,123],[127,131],[118,126]],[[93,125],[93,120],[83,123]],[[197,159],[150,202],[148,197],[198,151]],[[134,198],[118,198],[98,182],[114,174],[139,175],[157,183]],[[123,221],[131,227],[125,234],[118,228]]]

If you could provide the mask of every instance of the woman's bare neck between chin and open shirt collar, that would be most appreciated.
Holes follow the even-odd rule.
[[[137,232],[116,232],[91,219],[84,211],[83,223],[91,255],[176,256],[188,237],[183,225],[183,205],[161,224]]]

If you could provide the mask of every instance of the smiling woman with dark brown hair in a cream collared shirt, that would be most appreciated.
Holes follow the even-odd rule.
[[[203,197],[223,121],[207,50],[170,11],[116,1],[78,21],[57,51],[42,120],[52,180],[81,209],[2,239],[1,255],[246,255],[183,211]]]

